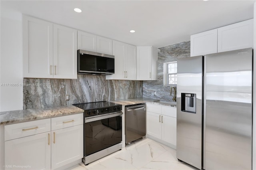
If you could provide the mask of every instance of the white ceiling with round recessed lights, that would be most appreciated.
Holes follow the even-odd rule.
[[[0,1],[50,22],[130,43],[163,47],[190,35],[253,18],[255,0],[19,0]],[[82,13],[74,12],[80,8]],[[135,33],[130,33],[135,30]]]

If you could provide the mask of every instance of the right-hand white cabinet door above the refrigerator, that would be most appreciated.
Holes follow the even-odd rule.
[[[253,47],[253,19],[218,28],[218,52]]]

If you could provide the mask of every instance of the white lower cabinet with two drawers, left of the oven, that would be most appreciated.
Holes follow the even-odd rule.
[[[64,128],[55,130],[53,125]],[[65,168],[83,157],[83,113],[5,125],[4,132],[8,170]]]

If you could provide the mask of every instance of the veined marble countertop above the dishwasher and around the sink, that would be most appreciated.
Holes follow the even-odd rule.
[[[158,99],[149,99],[149,98],[136,98],[136,99],[120,99],[115,101],[110,101],[113,103],[117,103],[120,105],[136,105],[139,103],[152,103],[157,105],[164,105],[164,106],[170,106],[170,107],[176,107],[176,102],[166,102],[166,101],[160,101]]]

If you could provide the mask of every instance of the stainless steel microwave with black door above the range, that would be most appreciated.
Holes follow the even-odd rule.
[[[110,75],[115,73],[114,55],[77,50],[78,74]]]

